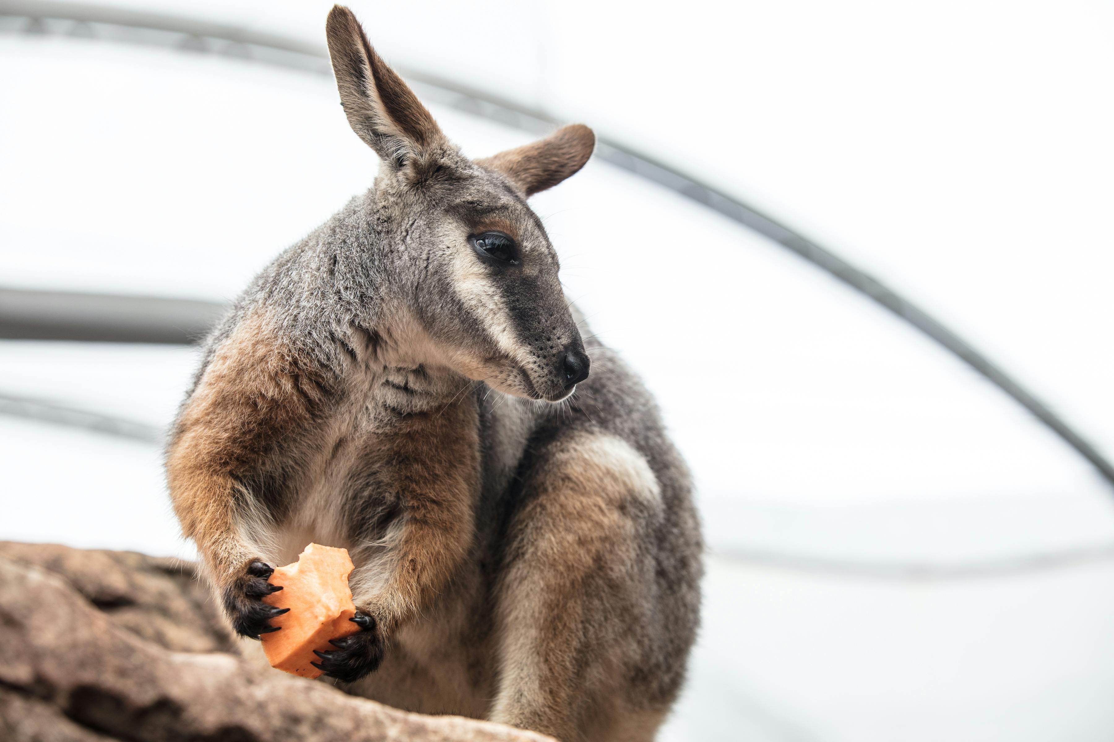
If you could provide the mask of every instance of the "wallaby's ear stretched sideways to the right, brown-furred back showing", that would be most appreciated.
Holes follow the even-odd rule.
[[[592,157],[596,135],[583,123],[570,123],[545,139],[476,160],[510,178],[527,197],[553,188],[575,175]]]

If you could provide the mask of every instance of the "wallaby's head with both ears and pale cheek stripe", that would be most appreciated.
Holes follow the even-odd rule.
[[[341,105],[380,158],[369,212],[381,273],[439,359],[517,396],[556,402],[588,376],[588,356],[526,199],[579,170],[585,126],[469,160],[368,42],[352,12],[326,24]]]

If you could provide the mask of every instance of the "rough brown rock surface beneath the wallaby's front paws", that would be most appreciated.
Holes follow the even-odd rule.
[[[0,542],[6,742],[548,739],[356,699],[236,647],[189,563]]]

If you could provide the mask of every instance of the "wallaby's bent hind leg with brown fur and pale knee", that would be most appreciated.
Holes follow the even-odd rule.
[[[491,719],[566,741],[651,740],[684,672],[683,652],[663,663],[676,612],[657,582],[661,487],[610,435],[566,434],[538,458],[507,534]]]

